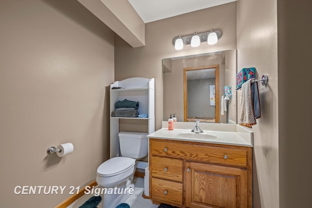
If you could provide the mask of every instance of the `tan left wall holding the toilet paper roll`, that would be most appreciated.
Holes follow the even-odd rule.
[[[1,0],[0,28],[0,207],[53,208],[109,157],[114,33],[76,0]],[[72,154],[47,155],[66,142]]]

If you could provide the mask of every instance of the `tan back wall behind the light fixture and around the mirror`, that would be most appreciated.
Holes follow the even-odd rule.
[[[223,33],[217,44],[209,46],[207,43],[201,43],[197,48],[188,45],[183,50],[175,50],[172,41],[178,35],[191,35],[194,32],[210,31],[212,28]],[[124,40],[116,37],[115,80],[136,76],[155,78],[157,130],[161,128],[163,119],[161,60],[229,49],[236,49],[236,2],[147,23],[143,47],[132,48]]]

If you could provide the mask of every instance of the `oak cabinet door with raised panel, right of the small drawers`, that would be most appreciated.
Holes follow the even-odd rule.
[[[189,161],[184,165],[186,207],[247,208],[247,170]]]

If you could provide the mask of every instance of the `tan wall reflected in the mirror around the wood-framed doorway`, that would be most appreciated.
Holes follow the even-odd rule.
[[[223,95],[225,85],[235,89],[236,50],[213,52],[208,54],[172,57],[163,59],[163,120],[176,113],[177,121],[184,120],[183,69],[219,65],[219,98]],[[220,123],[236,123],[236,91],[230,99],[227,114],[219,114]],[[209,93],[209,92],[207,92]],[[208,107],[208,106],[207,106]],[[221,102],[219,101],[219,109]],[[220,112],[219,112],[220,113]]]

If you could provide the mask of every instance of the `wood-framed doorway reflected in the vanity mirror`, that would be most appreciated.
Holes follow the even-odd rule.
[[[184,68],[183,91],[185,122],[219,123],[219,65]]]

